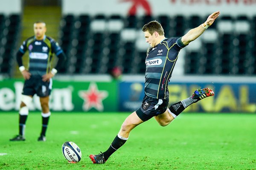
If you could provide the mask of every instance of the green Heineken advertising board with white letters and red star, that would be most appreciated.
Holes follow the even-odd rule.
[[[0,81],[0,111],[17,111],[23,80]],[[50,95],[51,111],[117,111],[116,82],[65,82],[53,80]],[[38,96],[33,97],[30,111],[41,111]]]

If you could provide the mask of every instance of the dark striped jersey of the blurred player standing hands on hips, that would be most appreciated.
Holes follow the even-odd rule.
[[[47,74],[50,71],[52,53],[55,53],[56,56],[63,53],[63,50],[58,43],[47,36],[44,36],[43,40],[36,40],[35,36],[29,37],[20,46],[19,52],[23,55],[26,50],[29,51],[28,69],[33,76],[43,76],[44,74]],[[17,61],[18,65],[21,66],[22,62],[19,62],[18,59]],[[56,69],[58,70],[58,68]]]

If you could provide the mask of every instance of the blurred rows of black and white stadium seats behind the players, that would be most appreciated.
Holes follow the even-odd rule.
[[[109,74],[119,66],[123,74],[144,74],[148,45],[142,26],[159,21],[166,37],[183,36],[204,22],[205,16],[90,16],[68,14],[60,21],[59,40],[67,61],[61,74]],[[0,73],[12,75],[20,34],[20,15],[0,14]],[[184,73],[256,75],[256,16],[221,16],[195,43],[186,47]],[[189,46],[192,46],[192,43]],[[14,50],[15,49],[15,50]]]

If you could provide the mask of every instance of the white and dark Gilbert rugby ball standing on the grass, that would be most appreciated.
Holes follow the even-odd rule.
[[[79,162],[82,157],[80,148],[74,142],[65,142],[62,144],[63,156],[72,163]]]

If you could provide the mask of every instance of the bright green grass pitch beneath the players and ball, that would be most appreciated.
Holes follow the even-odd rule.
[[[132,130],[128,142],[105,164],[90,154],[105,151],[128,113],[52,113],[47,141],[38,142],[41,114],[29,113],[26,141],[17,134],[18,114],[0,113],[0,169],[10,170],[255,170],[256,114],[182,113],[161,127],[153,119]],[[81,161],[68,164],[66,141],[78,144]]]

